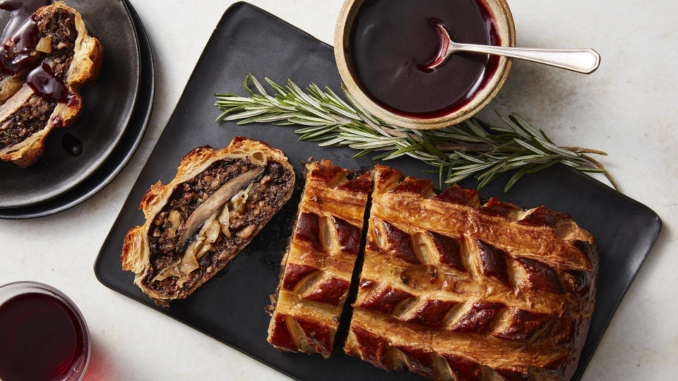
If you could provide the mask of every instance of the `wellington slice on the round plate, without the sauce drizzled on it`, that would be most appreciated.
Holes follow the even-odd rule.
[[[42,156],[52,128],[76,122],[83,110],[81,87],[95,80],[103,56],[99,40],[88,35],[80,13],[64,3],[44,6],[32,18],[40,34],[40,43],[32,53],[37,58],[35,66],[47,66],[69,95],[58,102],[39,95],[26,83],[25,71],[2,75],[0,159],[19,167],[28,167]]]

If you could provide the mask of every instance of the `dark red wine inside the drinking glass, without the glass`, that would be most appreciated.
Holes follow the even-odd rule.
[[[85,351],[83,329],[54,296],[29,293],[0,305],[0,380],[57,380]]]

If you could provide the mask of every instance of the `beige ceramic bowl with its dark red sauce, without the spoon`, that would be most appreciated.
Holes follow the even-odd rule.
[[[506,0],[347,0],[335,30],[335,59],[347,89],[379,119],[431,129],[470,118],[499,92],[511,59],[487,54],[436,58],[444,25],[455,42],[514,47]]]

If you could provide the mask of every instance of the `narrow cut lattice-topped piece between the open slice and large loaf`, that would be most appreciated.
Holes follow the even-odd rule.
[[[271,297],[268,342],[281,351],[329,357],[350,289],[371,181],[331,163],[307,165],[295,232]]]

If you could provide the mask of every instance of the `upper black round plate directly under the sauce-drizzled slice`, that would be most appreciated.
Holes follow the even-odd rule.
[[[83,15],[90,35],[104,47],[96,83],[83,89],[84,110],[73,126],[55,129],[44,156],[22,169],[0,162],[0,208],[25,207],[66,193],[83,183],[112,154],[131,120],[139,88],[139,45],[133,21],[121,0],[66,0]],[[0,25],[9,13],[2,12]],[[72,157],[61,147],[65,133],[83,145]]]

